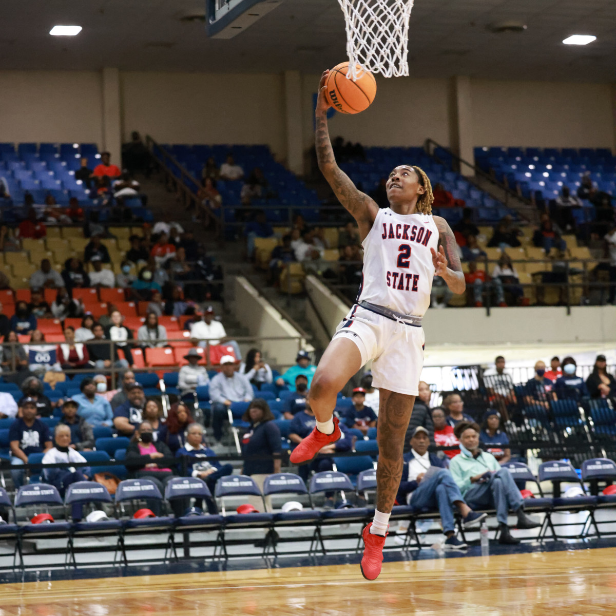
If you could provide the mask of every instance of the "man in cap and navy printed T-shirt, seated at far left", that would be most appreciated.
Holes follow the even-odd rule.
[[[15,419],[9,428],[11,466],[28,464],[31,453],[44,453],[52,448],[49,428],[36,418],[36,402],[25,399],[22,403],[22,416]],[[23,485],[24,471],[10,471],[15,488]]]

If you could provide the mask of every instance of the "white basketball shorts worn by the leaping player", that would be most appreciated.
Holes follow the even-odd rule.
[[[418,395],[426,341],[423,327],[394,321],[355,304],[333,338],[341,336],[355,342],[362,366],[373,360],[373,387]]]

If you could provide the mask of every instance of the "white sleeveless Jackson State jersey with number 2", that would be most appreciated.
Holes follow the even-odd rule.
[[[431,214],[396,214],[379,209],[363,246],[362,285],[357,301],[423,317],[434,278],[431,248],[439,230]]]

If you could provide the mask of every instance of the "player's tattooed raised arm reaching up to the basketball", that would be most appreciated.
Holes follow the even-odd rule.
[[[331,147],[330,132],[327,129],[328,103],[325,98],[325,81],[329,71],[321,76],[318,86],[317,109],[315,111],[317,128],[315,130],[315,145],[317,147],[318,168],[328,181],[336,197],[342,205],[352,214],[359,225],[360,234],[363,238],[368,235],[375,221],[379,206],[368,195],[357,190],[355,184],[347,174],[342,171]]]

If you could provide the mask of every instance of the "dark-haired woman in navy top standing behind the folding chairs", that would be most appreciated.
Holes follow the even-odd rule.
[[[282,450],[280,440],[280,429],[274,422],[274,415],[270,410],[269,404],[260,398],[254,399],[241,418],[247,421],[250,428],[241,439],[242,453],[247,458],[244,460],[242,474],[252,477],[259,490],[263,490],[265,478],[274,472],[280,472],[280,452]],[[275,459],[251,460],[256,456],[274,456]],[[256,509],[261,511],[263,504],[252,503]],[[265,509],[272,511],[271,498],[265,497]]]

